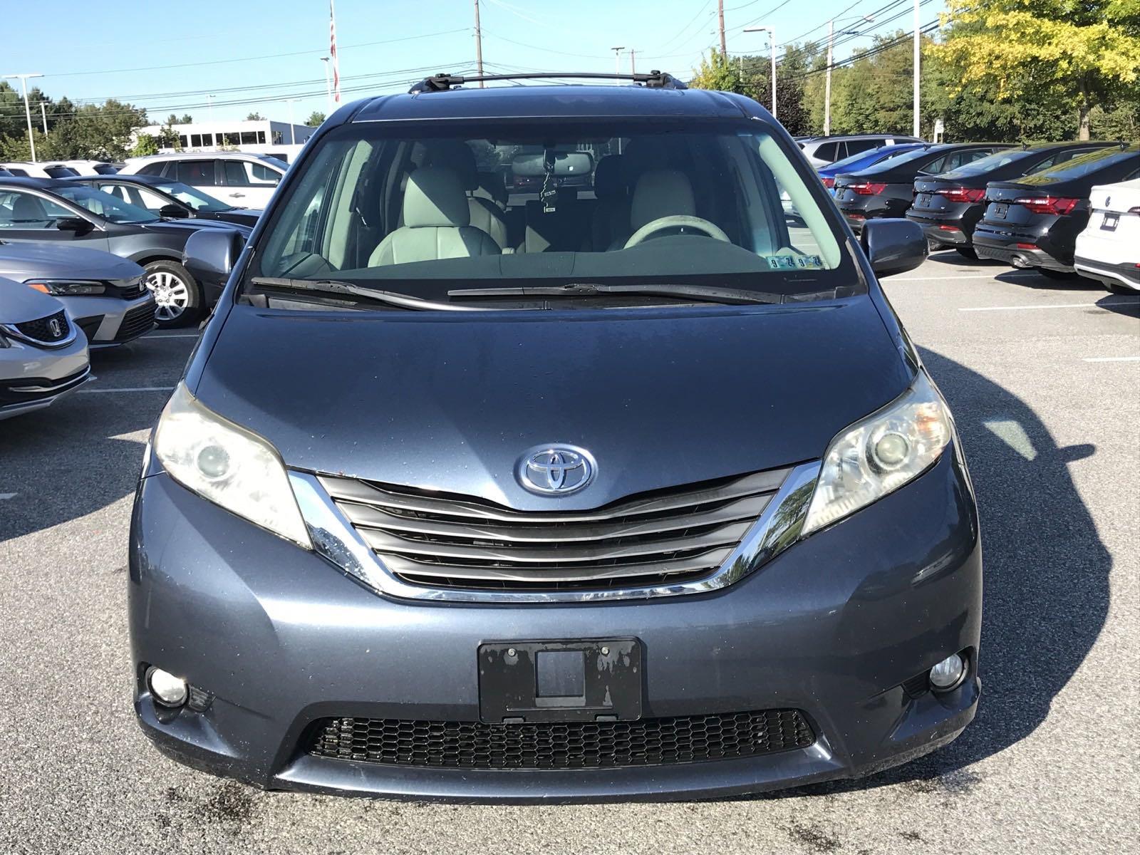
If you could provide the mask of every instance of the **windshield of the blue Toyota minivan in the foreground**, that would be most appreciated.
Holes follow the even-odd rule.
[[[822,186],[758,122],[339,129],[275,205],[251,277],[448,288],[857,285]],[[798,160],[798,158],[797,158]]]

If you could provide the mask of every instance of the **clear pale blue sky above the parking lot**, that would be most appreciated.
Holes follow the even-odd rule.
[[[921,23],[943,0],[921,0]],[[825,39],[837,18],[836,60],[866,47],[868,35],[909,28],[913,0],[724,0],[730,55]],[[0,0],[6,36],[0,74],[42,73],[32,81],[52,98],[107,98],[197,120],[258,112],[298,123],[327,112],[328,0]],[[629,71],[687,76],[717,43],[716,0],[480,0],[486,73],[613,72],[614,47]],[[874,22],[862,15],[879,13]],[[897,17],[895,17],[897,16]],[[406,91],[435,72],[475,65],[473,0],[336,0],[342,103]],[[22,34],[14,39],[11,34]],[[10,81],[18,88],[17,81]],[[296,99],[296,100],[288,100]]]

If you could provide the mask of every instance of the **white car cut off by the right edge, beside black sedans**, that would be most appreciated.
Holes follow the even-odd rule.
[[[1140,291],[1140,178],[1092,188],[1075,255],[1081,276],[1118,294]]]

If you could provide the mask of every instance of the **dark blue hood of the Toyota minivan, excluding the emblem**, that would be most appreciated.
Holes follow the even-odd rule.
[[[804,306],[344,312],[235,307],[192,390],[288,466],[543,510],[823,456],[911,372],[868,296]],[[551,498],[523,451],[588,449]]]

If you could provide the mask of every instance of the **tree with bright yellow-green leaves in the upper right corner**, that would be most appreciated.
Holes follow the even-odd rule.
[[[1000,99],[1053,90],[1076,106],[1080,139],[1094,107],[1140,78],[1138,0],[948,0],[950,30],[933,55],[956,90],[988,84]]]

